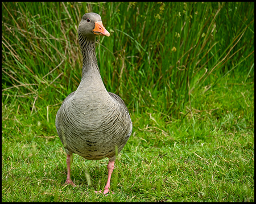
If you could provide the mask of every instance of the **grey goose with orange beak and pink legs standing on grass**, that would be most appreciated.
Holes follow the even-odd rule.
[[[109,158],[108,180],[103,191],[107,194],[115,157],[128,141],[133,125],[121,97],[108,92],[102,82],[95,52],[97,35],[110,36],[101,16],[93,12],[84,14],[78,28],[83,59],[81,82],[61,104],[55,124],[67,153],[65,184],[76,186],[71,180],[73,153],[88,160]]]

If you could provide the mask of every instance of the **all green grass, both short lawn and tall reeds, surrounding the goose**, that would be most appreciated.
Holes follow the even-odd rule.
[[[133,133],[115,162],[65,153],[55,129],[97,12],[108,91]],[[2,202],[254,202],[254,2],[2,2]]]

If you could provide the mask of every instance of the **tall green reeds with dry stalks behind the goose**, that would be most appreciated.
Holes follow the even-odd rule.
[[[106,88],[135,113],[169,120],[226,75],[254,79],[254,2],[2,2],[3,103],[25,98],[42,116],[47,105],[54,120],[81,79],[85,12],[110,32],[96,53]]]

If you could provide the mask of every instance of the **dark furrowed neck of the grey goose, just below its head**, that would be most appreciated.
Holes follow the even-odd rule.
[[[82,52],[82,78],[88,71],[88,69],[98,69],[98,62],[95,53],[96,37],[84,37],[79,34],[79,45]]]

